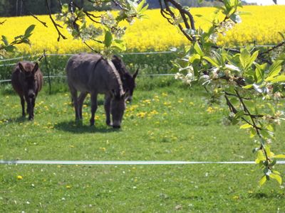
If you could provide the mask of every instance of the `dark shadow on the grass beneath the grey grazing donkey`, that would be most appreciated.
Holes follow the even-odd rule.
[[[63,121],[54,125],[55,129],[62,131],[69,131],[72,133],[108,133],[113,131],[120,131],[120,129],[113,129],[108,126],[89,126],[82,124],[82,121]]]

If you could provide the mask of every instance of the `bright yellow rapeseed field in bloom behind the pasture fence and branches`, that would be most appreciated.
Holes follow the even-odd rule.
[[[192,14],[201,14],[203,18],[195,16],[196,28],[209,27],[212,20],[214,8],[193,8]],[[250,15],[242,16],[242,23],[237,24],[226,36],[219,36],[219,45],[245,45],[247,43],[275,44],[281,37],[278,32],[285,33],[285,6],[244,6],[242,11],[248,11]],[[127,44],[127,52],[147,50],[169,50],[170,47],[186,45],[188,41],[184,36],[168,23],[160,15],[160,10],[149,10],[146,12],[148,18],[142,21],[135,21],[133,26],[129,26],[124,37]],[[57,32],[48,16],[38,16],[41,21],[45,21],[48,28],[44,27],[31,16],[0,18],[6,22],[0,26],[0,35],[6,35],[10,40],[16,35],[24,33],[24,30],[31,24],[36,24],[36,28],[31,35],[31,47],[19,45],[19,50],[25,53],[77,53],[86,51],[86,45],[80,40],[73,40],[67,31],[63,30],[68,40],[61,39],[57,42]]]

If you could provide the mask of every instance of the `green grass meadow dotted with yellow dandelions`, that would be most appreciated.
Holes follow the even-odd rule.
[[[66,87],[47,84],[35,119],[21,118],[19,97],[1,86],[2,160],[254,160],[254,142],[226,125],[227,107],[172,77],[139,77],[120,130],[95,127],[90,99],[74,121]],[[260,104],[259,107],[263,107]],[[284,126],[273,151],[285,153]],[[285,166],[276,165],[285,179]],[[259,187],[258,165],[0,165],[0,212],[285,212],[284,183]]]

